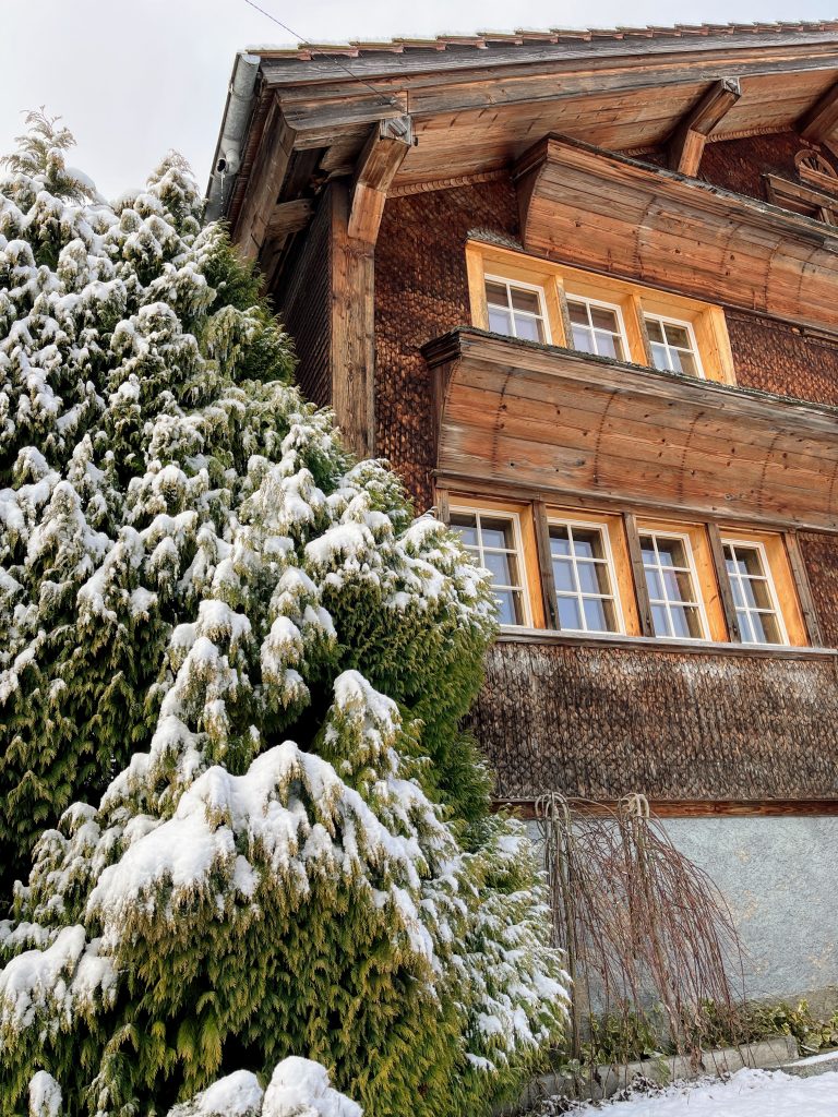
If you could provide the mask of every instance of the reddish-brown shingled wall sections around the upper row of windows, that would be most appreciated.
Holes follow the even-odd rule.
[[[766,165],[777,166],[793,161],[787,139],[710,144],[707,152],[716,159],[716,147],[729,149],[732,184],[744,188],[742,175],[734,182],[743,159],[737,145],[756,144]],[[430,381],[419,350],[470,322],[464,254],[469,232],[516,240],[517,200],[511,182],[390,198],[375,248],[375,450],[404,478],[419,509],[432,503],[434,467]],[[838,337],[807,337],[743,311],[726,311],[725,317],[742,386],[838,404]]]

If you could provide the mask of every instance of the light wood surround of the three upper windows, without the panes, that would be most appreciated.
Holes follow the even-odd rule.
[[[472,321],[482,330],[491,328],[486,284],[496,277],[543,293],[547,336],[553,345],[577,349],[569,302],[604,305],[618,314],[623,345],[628,350],[627,362],[648,367],[661,366],[660,355],[649,340],[647,318],[654,322],[663,319],[686,327],[695,344],[697,376],[725,384],[736,382],[724,312],[718,306],[610,276],[581,271],[479,240],[469,240],[466,245],[466,268]],[[663,366],[672,365],[670,353],[668,363]]]

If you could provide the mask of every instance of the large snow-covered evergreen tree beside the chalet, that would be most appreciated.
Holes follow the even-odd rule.
[[[0,180],[0,1113],[198,1113],[305,1057],[368,1117],[475,1117],[566,1000],[458,729],[484,575],[289,385],[181,161],[108,206],[31,123]]]

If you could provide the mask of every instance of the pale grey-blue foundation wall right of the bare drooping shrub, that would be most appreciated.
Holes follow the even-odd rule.
[[[749,1000],[838,1003],[838,818],[667,819],[674,844],[724,894]],[[531,833],[537,838],[534,823]]]

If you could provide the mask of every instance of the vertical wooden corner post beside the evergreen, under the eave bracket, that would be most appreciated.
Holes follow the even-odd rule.
[[[374,303],[373,250],[350,236],[349,184],[328,187],[332,207],[332,407],[344,443],[359,458],[368,458],[374,443],[373,366]]]

